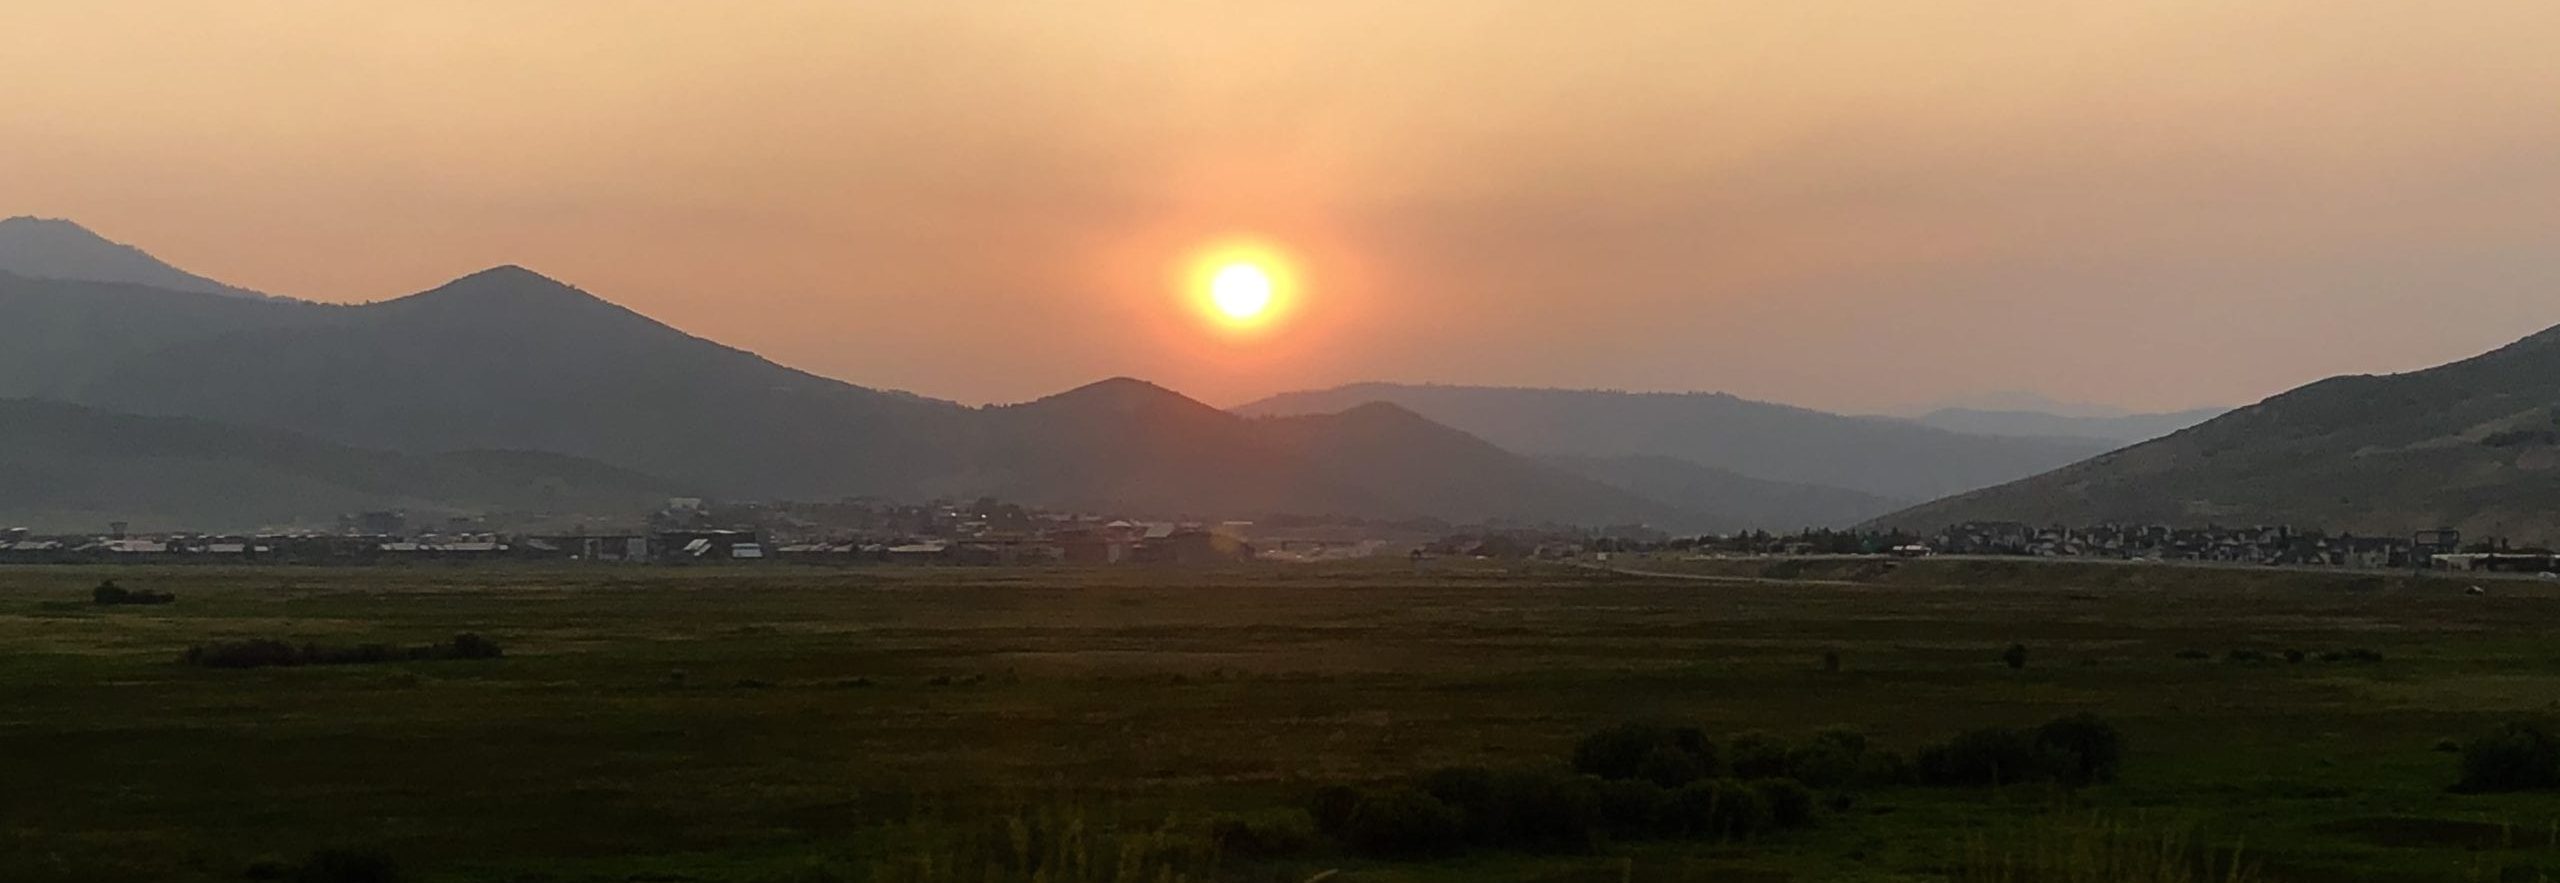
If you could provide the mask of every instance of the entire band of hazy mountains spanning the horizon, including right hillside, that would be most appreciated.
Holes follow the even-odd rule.
[[[1408,384],[1221,412],[1137,379],[965,407],[786,369],[520,266],[312,305],[31,218],[0,223],[0,522],[312,525],[704,494],[1667,530],[2560,530],[2560,333],[2202,425],[2212,412],[1846,417]]]

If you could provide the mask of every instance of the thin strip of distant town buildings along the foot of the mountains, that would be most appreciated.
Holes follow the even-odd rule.
[[[1242,563],[1339,558],[1539,558],[1692,555],[1692,558],[2086,558],[2130,563],[2217,563],[2289,568],[2560,571],[2550,548],[2499,537],[2465,543],[2452,530],[2406,537],[2322,532],[2286,525],[2035,527],[1966,522],[1930,535],[1876,530],[1800,530],[1667,535],[1641,525],[1446,525],[1326,517],[1132,520],[1047,512],[998,499],[893,504],[750,502],[678,497],[630,527],[494,530],[484,517],[422,520],[407,512],[353,512],[338,530],[271,532],[102,532],[44,535],[0,527],[0,563],[428,563],[428,561],[586,561],[586,563]]]

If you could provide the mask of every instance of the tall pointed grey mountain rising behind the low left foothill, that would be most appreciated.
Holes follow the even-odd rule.
[[[33,299],[87,330],[54,348],[105,348],[64,356],[77,402],[358,448],[556,450],[735,497],[904,497],[970,415],[783,369],[517,266],[361,307],[241,302],[197,335],[64,302],[97,292],[51,294]],[[141,351],[118,343],[136,325]]]

